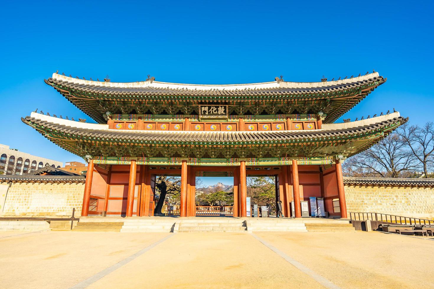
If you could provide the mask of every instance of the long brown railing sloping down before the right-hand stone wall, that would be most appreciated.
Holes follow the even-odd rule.
[[[396,216],[383,213],[358,213],[350,212],[351,221],[382,221],[395,224],[410,224],[410,225],[431,225],[434,224],[434,220],[411,218],[404,216]]]

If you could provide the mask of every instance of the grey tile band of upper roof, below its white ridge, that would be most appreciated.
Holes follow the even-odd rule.
[[[116,87],[109,86],[106,82],[92,81],[92,84],[79,83],[80,81],[74,81],[74,78],[70,78],[70,81],[57,78],[49,78],[44,80],[49,85],[61,85],[64,88],[74,89],[78,91],[84,91],[89,93],[109,94],[109,95],[138,95],[138,96],[155,96],[155,95],[184,95],[184,96],[225,96],[225,95],[237,95],[237,96],[255,96],[255,95],[296,95],[296,94],[318,94],[318,93],[330,93],[336,91],[344,91],[351,88],[358,88],[362,85],[371,84],[375,81],[383,83],[386,81],[382,76],[362,79],[359,81],[353,81],[351,78],[347,81],[334,84],[329,83],[321,86],[308,86],[306,87],[283,87],[275,86],[268,88],[244,88],[244,89],[189,89],[183,87],[187,84],[180,84],[181,88],[164,87],[161,83],[161,87],[156,86],[143,86],[143,87]],[[95,83],[95,84],[93,84]],[[318,84],[315,82],[315,84]]]

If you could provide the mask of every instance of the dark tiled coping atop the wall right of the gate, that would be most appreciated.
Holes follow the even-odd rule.
[[[400,178],[351,178],[344,177],[345,185],[384,185],[384,186],[434,186],[434,179]]]

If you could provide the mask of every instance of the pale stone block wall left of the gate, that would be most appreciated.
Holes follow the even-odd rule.
[[[0,216],[70,216],[72,208],[77,217],[81,214],[84,182],[0,182],[4,188],[2,185],[9,188],[4,205],[0,203]]]

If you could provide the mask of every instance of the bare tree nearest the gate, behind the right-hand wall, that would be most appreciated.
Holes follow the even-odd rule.
[[[399,178],[413,176],[418,166],[407,144],[394,132],[348,158],[343,167],[345,176]]]

